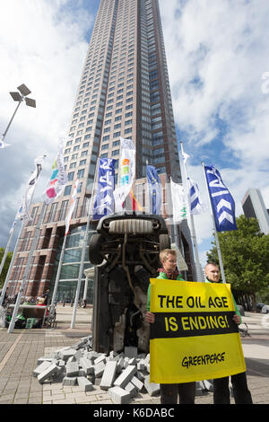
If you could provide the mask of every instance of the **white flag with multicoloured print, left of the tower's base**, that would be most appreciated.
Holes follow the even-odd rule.
[[[65,163],[64,163],[64,146],[63,141],[60,141],[58,154],[56,160],[52,166],[52,174],[48,180],[48,188],[43,194],[44,201],[46,204],[51,204],[58,198],[67,183],[67,175],[65,172]]]

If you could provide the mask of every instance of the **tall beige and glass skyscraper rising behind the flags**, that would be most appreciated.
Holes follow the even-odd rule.
[[[64,194],[47,207],[25,294],[40,295],[55,280],[65,215],[77,177],[79,199],[58,289],[59,298],[74,297],[98,157],[115,158],[118,164],[120,136],[132,139],[136,148],[136,195],[141,198],[143,210],[146,211],[145,177],[149,163],[161,174],[162,214],[169,217],[165,185],[170,177],[181,182],[181,173],[158,0],[100,0],[66,136],[68,183]],[[23,230],[10,294],[22,279],[40,209],[40,204],[33,205],[32,222]],[[174,228],[172,234],[187,261],[187,277],[193,279],[187,223]],[[88,267],[90,263],[86,261],[84,268]]]

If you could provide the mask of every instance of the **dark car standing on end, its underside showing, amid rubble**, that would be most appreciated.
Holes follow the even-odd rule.
[[[150,327],[144,321],[147,289],[158,277],[159,253],[170,248],[160,215],[119,213],[100,219],[91,236],[89,258],[95,269],[93,349],[108,353],[125,347],[149,351]]]

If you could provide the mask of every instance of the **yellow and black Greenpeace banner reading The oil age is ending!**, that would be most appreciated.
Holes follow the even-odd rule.
[[[229,284],[151,279],[150,382],[178,383],[246,371]]]

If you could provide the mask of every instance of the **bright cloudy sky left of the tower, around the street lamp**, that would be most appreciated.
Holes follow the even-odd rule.
[[[0,177],[4,180],[0,215],[0,246],[19,207],[34,158],[47,154],[36,194],[46,186],[60,136],[66,136],[75,93],[88,48],[85,33],[93,16],[67,0],[9,0],[0,13],[0,127],[2,133],[16,104],[9,95],[26,84],[37,108],[22,103],[1,150]],[[36,195],[36,196],[37,196]]]

